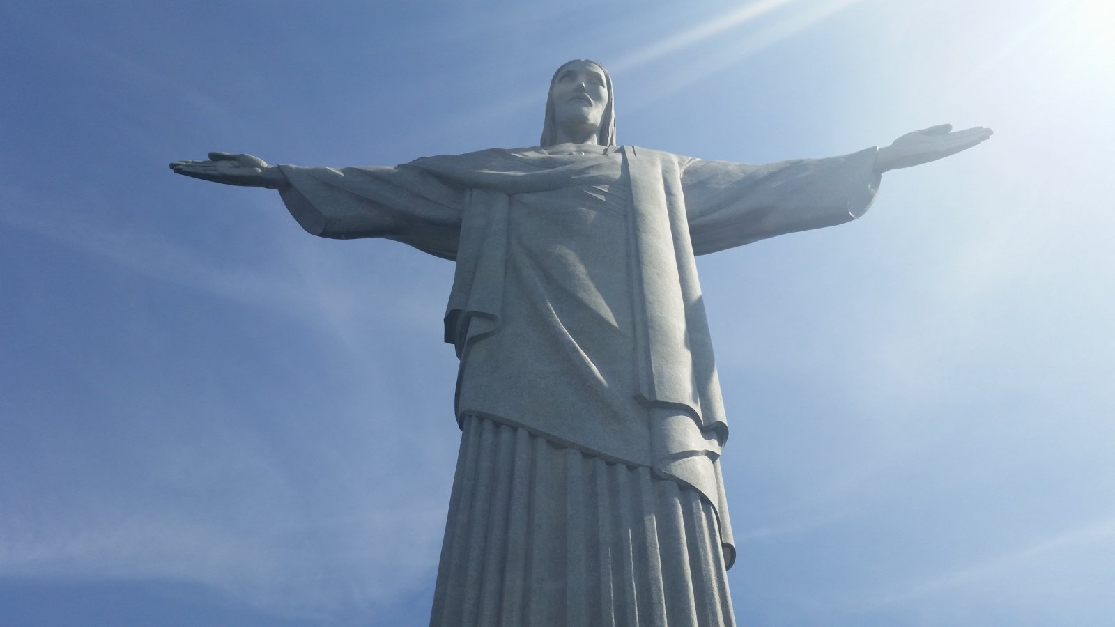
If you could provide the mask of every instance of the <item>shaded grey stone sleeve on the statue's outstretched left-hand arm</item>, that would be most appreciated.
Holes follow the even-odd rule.
[[[300,167],[280,165],[280,193],[307,232],[322,238],[387,238],[456,259],[465,190],[413,165]]]

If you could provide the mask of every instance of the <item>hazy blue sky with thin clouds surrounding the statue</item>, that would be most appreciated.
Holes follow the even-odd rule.
[[[425,625],[452,262],[167,163],[529,146],[572,58],[683,155],[996,132],[699,259],[739,623],[1113,624],[1111,7],[3,2],[0,625]]]

